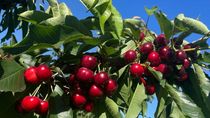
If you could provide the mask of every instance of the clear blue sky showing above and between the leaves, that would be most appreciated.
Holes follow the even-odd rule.
[[[60,0],[60,2],[65,2],[79,19],[91,15],[79,0]],[[113,4],[123,18],[139,16],[146,20],[148,16],[144,11],[144,7],[151,8],[158,6],[159,10],[166,13],[169,19],[174,19],[179,13],[183,13],[188,17],[199,18],[210,28],[210,0],[113,0]],[[160,33],[160,28],[154,16],[150,18],[148,27],[157,34]],[[0,35],[0,38],[2,36]],[[16,33],[16,36],[18,39],[21,38],[19,31]],[[200,35],[191,35],[187,40],[193,41],[199,37]],[[149,103],[147,117],[154,117],[156,106],[156,99],[152,103]]]

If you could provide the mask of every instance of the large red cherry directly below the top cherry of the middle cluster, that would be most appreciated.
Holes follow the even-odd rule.
[[[93,71],[91,71],[90,69],[81,67],[78,69],[76,76],[79,81],[89,83],[92,81],[94,74],[93,74]]]

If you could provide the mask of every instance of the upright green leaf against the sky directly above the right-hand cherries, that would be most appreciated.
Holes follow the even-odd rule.
[[[174,32],[174,26],[172,22],[162,12],[155,12],[155,17],[160,25],[160,29],[164,32],[166,39],[169,39]]]

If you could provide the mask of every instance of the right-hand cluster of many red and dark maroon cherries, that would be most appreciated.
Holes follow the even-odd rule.
[[[140,40],[144,40],[144,34],[140,34]],[[140,78],[140,82],[145,85],[146,93],[152,95],[155,93],[154,76],[149,72],[147,64],[156,71],[163,74],[164,79],[170,79],[169,76],[175,73],[178,81],[188,79],[186,69],[190,67],[191,60],[188,58],[195,55],[195,51],[185,52],[183,49],[192,48],[191,44],[182,46],[182,43],[177,43],[173,40],[177,49],[169,47],[169,40],[165,38],[164,34],[160,34],[154,42],[146,42],[139,45],[138,51],[128,50],[124,54],[125,61],[131,63],[130,74],[133,77]],[[135,62],[137,59],[137,52],[140,53],[140,63]],[[179,65],[179,68],[177,66]]]

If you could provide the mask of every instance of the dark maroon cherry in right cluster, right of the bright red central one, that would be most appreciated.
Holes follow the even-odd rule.
[[[161,47],[158,53],[163,61],[171,61],[174,57],[173,50],[168,46]]]

